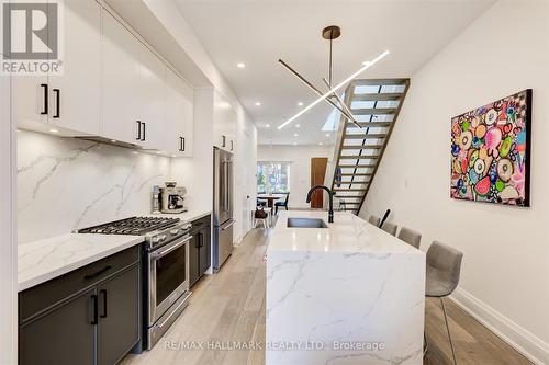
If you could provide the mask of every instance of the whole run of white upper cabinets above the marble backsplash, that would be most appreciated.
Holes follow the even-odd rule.
[[[65,0],[64,22],[63,73],[13,78],[19,127],[192,156],[192,88],[94,0]]]

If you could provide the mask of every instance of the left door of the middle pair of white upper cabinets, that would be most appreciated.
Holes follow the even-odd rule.
[[[107,138],[143,145],[139,126],[141,42],[107,10],[102,11],[102,128]]]

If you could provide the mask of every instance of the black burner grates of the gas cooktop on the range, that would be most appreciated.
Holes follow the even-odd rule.
[[[143,236],[154,230],[176,225],[179,218],[131,217],[108,224],[79,229],[78,233]]]

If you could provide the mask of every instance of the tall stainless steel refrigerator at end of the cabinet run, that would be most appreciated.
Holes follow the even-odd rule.
[[[233,153],[213,149],[213,271],[233,252]]]

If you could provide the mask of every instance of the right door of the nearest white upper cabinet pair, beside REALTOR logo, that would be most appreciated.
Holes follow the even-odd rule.
[[[98,135],[101,126],[101,7],[64,1],[63,75],[49,76],[49,123]]]

